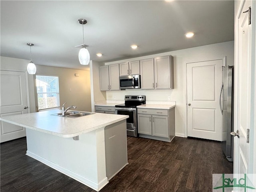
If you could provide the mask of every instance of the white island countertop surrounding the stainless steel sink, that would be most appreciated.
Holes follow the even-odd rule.
[[[104,128],[110,124],[125,120],[129,116],[94,113],[78,118],[53,116],[61,110],[53,109],[36,113],[5,116],[0,120],[40,132],[60,136],[74,137],[92,130]]]

